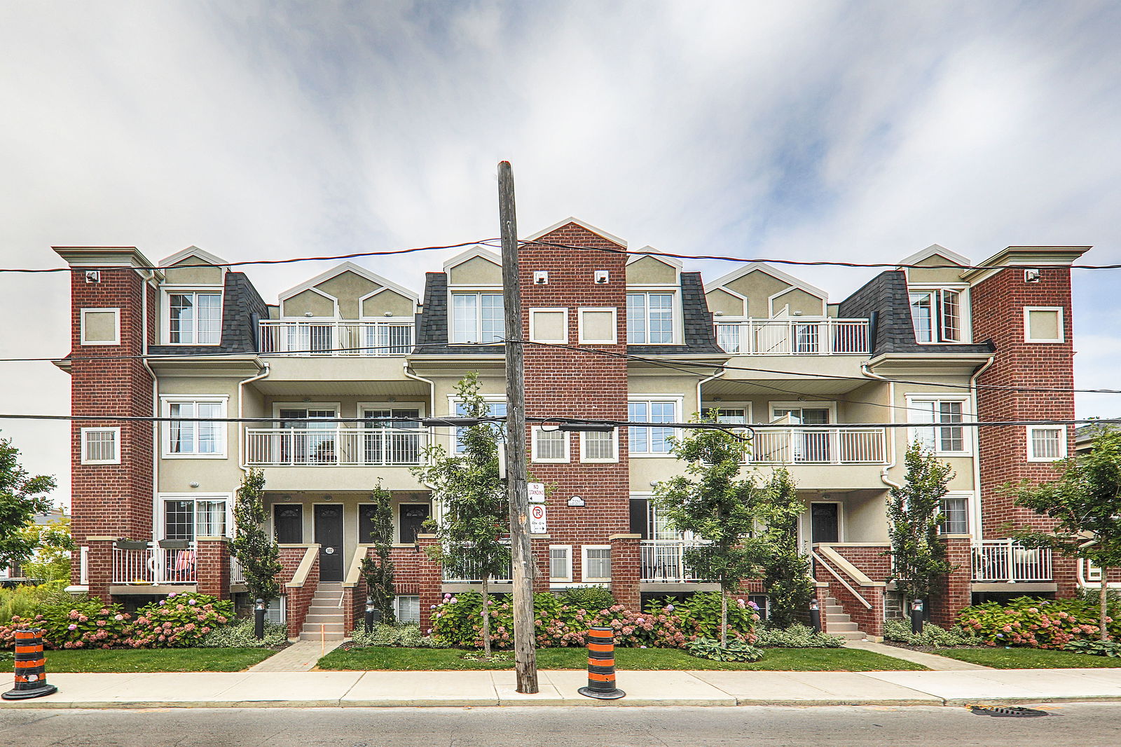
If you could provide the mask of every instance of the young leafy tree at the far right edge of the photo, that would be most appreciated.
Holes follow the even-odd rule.
[[[1055,520],[1051,532],[1021,528],[1016,536],[1025,546],[1051,547],[1102,569],[1099,635],[1108,640],[1106,574],[1121,566],[1121,431],[1099,428],[1090,453],[1056,461],[1054,467],[1059,477],[1053,482],[1004,486],[1019,506]]]

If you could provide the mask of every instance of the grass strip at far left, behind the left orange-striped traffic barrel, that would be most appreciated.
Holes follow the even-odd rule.
[[[275,653],[270,648],[48,651],[47,676],[56,672],[240,672]],[[3,658],[10,667],[11,660]]]

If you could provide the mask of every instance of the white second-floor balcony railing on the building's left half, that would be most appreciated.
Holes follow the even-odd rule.
[[[247,428],[245,467],[420,464],[420,428]]]

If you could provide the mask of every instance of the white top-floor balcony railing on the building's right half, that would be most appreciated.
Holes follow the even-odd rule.
[[[869,352],[868,320],[716,322],[716,342],[740,356],[859,356]]]

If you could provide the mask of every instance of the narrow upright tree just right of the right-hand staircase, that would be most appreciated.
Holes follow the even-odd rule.
[[[954,570],[938,527],[946,520],[942,499],[954,471],[917,441],[904,458],[902,487],[888,491],[888,536],[891,538],[890,580],[908,599],[928,599]]]

